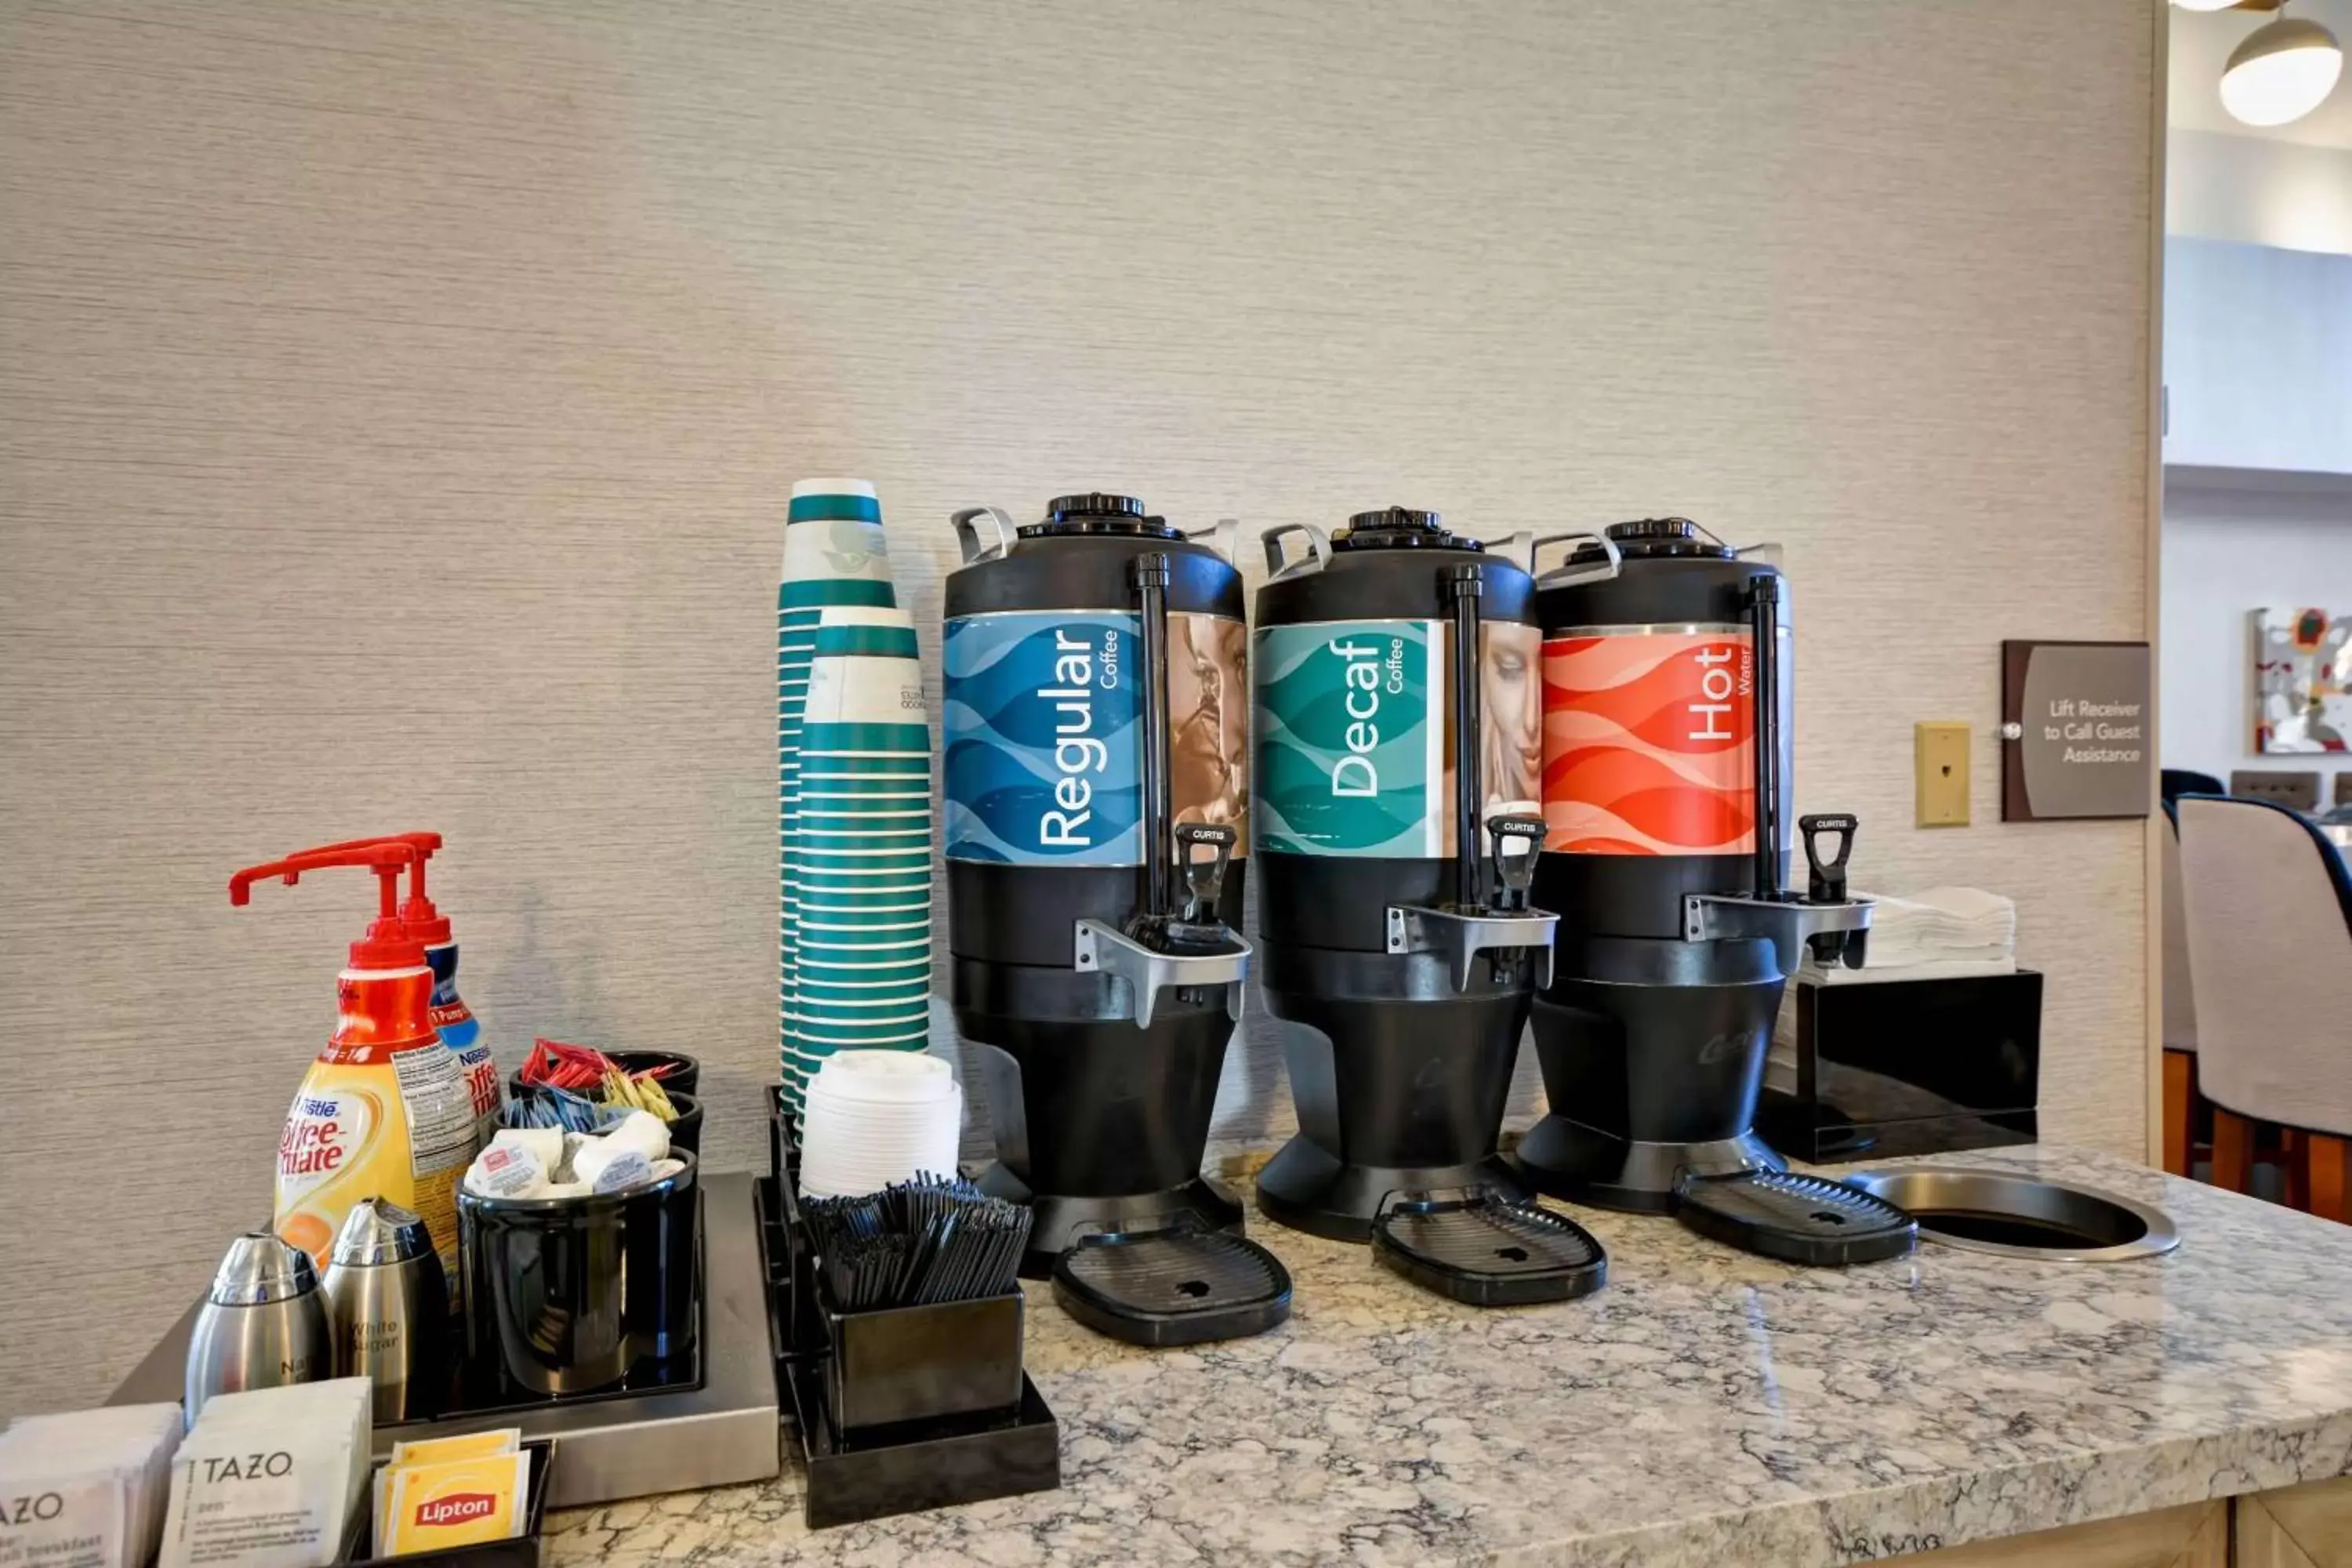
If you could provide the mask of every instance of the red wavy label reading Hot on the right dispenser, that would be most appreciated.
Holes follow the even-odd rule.
[[[1543,644],[1545,849],[1733,856],[1755,846],[1748,632]]]

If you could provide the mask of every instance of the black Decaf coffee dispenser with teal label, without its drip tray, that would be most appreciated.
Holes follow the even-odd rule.
[[[1364,1241],[1397,1194],[1524,1197],[1496,1138],[1552,966],[1552,917],[1529,907],[1534,583],[1404,508],[1331,538],[1272,529],[1265,552],[1258,973],[1284,1020],[1298,1135],[1258,1175],[1258,1208]]]

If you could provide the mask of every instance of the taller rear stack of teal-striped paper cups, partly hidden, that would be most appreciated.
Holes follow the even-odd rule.
[[[797,924],[788,853],[800,780],[800,722],[809,696],[809,658],[826,614],[891,609],[898,595],[882,545],[882,505],[866,480],[802,480],[783,534],[776,585],[776,1067],[790,1048],[793,938]]]

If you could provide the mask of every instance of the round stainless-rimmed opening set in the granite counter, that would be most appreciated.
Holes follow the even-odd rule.
[[[2098,1187],[1938,1166],[1858,1171],[1842,1180],[1910,1211],[1924,1239],[1971,1253],[2107,1262],[2180,1246],[2161,1208]]]

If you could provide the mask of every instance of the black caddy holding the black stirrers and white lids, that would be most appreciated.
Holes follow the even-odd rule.
[[[776,1385],[811,1530],[1061,1486],[1061,1427],[1021,1371],[1021,1291],[837,1312],[800,1215],[800,1133],[771,1107],[760,1185]]]

